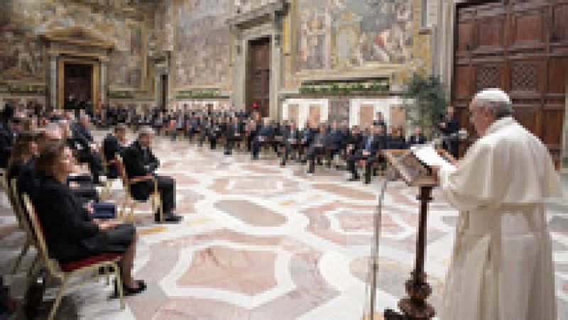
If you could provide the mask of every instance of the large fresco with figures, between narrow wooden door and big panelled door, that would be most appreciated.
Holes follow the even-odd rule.
[[[297,71],[412,58],[412,1],[298,0],[297,15]]]

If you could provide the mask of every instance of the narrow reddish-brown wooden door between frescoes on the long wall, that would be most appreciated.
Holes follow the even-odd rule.
[[[248,111],[257,110],[261,116],[269,116],[271,83],[271,42],[260,38],[249,43],[249,72],[247,75]]]

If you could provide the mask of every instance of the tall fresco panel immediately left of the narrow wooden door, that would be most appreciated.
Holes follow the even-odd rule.
[[[175,43],[179,87],[229,83],[229,0],[185,1],[178,7]]]

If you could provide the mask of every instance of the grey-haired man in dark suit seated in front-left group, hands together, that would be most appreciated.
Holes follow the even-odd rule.
[[[158,192],[163,204],[164,219],[166,222],[178,223],[181,216],[173,213],[175,209],[175,180],[171,177],[156,175],[154,172],[160,166],[160,161],[152,153],[151,144],[154,132],[151,128],[141,128],[138,140],[134,141],[124,151],[124,167],[129,179],[153,175],[158,182]],[[154,191],[153,182],[145,180],[131,185],[134,199],[145,201]],[[155,221],[160,221],[158,212],[155,213]]]

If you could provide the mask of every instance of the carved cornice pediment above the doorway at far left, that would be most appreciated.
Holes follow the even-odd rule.
[[[39,37],[51,43],[80,45],[106,50],[113,50],[116,47],[114,41],[104,39],[93,31],[81,26],[55,28],[41,33]]]

